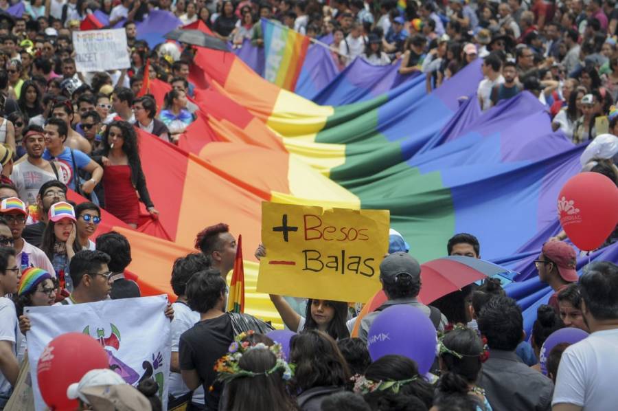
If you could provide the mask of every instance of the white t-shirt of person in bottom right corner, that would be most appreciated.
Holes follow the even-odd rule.
[[[551,405],[615,410],[618,403],[618,329],[597,331],[567,347],[560,359]]]

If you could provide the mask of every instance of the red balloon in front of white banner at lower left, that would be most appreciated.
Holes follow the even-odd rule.
[[[54,338],[36,366],[43,401],[51,410],[75,410],[78,401],[67,398],[67,388],[96,368],[109,368],[109,362],[105,350],[93,337],[67,333]]]

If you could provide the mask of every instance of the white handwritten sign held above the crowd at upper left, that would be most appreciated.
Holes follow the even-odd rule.
[[[73,32],[78,71],[106,71],[131,67],[124,29]]]

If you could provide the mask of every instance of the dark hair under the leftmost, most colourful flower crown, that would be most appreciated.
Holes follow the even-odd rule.
[[[268,348],[252,348],[246,351],[238,366],[253,373],[264,373],[275,366],[277,358]],[[226,411],[291,411],[298,407],[286,391],[283,370],[255,377],[232,379],[225,386]],[[259,395],[255,395],[255,393]]]

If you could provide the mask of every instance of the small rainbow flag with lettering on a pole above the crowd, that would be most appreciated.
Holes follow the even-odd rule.
[[[293,91],[307,56],[309,38],[275,21],[262,19],[264,78]]]

